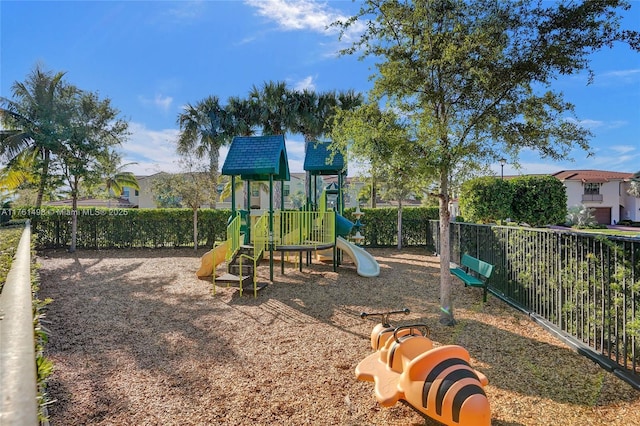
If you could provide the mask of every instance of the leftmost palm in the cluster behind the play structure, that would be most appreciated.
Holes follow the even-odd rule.
[[[217,96],[209,96],[195,105],[187,104],[178,115],[180,136],[178,153],[195,152],[198,158],[209,157],[209,174],[212,182],[218,181],[220,147],[230,142],[228,116],[220,106]],[[211,198],[211,208],[216,206],[215,194]]]

